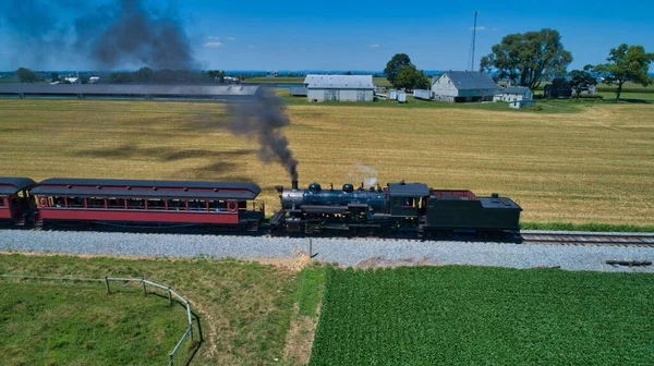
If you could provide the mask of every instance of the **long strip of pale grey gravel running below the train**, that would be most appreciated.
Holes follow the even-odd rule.
[[[654,247],[421,242],[411,240],[312,239],[314,259],[342,266],[474,265],[568,270],[646,271],[653,266],[609,266],[606,260],[651,260]],[[118,256],[296,258],[308,239],[0,230],[0,251]]]

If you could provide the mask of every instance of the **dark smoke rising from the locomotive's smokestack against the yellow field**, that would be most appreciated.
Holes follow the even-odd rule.
[[[284,111],[283,99],[274,90],[262,88],[262,95],[254,101],[228,106],[231,114],[229,130],[235,135],[256,138],[259,144],[258,157],[265,163],[280,162],[298,180],[298,160],[289,148],[283,127],[291,124]]]

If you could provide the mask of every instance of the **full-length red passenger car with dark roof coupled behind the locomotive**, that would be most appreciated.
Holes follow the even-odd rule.
[[[36,224],[105,223],[257,230],[263,203],[254,183],[49,179],[32,190]]]

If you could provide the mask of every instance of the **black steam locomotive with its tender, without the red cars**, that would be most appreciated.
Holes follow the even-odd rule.
[[[512,239],[520,232],[522,208],[507,197],[476,197],[470,191],[433,190],[423,183],[363,184],[354,190],[299,190],[277,186],[281,210],[270,219],[274,233],[387,235],[415,232],[421,237],[473,234]]]

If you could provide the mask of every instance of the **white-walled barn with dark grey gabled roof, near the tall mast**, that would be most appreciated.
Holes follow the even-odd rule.
[[[493,101],[499,90],[500,86],[491,76],[476,71],[446,71],[432,80],[434,100]]]

